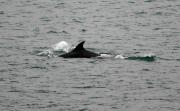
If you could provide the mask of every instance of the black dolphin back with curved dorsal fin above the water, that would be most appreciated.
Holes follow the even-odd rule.
[[[64,58],[91,58],[91,57],[97,57],[99,54],[88,51],[84,49],[85,41],[82,41],[79,43],[75,49],[73,49],[71,52],[65,53],[60,55],[59,57],[64,57]]]

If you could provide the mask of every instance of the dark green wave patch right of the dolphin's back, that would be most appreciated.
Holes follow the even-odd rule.
[[[127,57],[126,59],[153,62],[156,60],[156,56],[130,56],[130,57]]]

